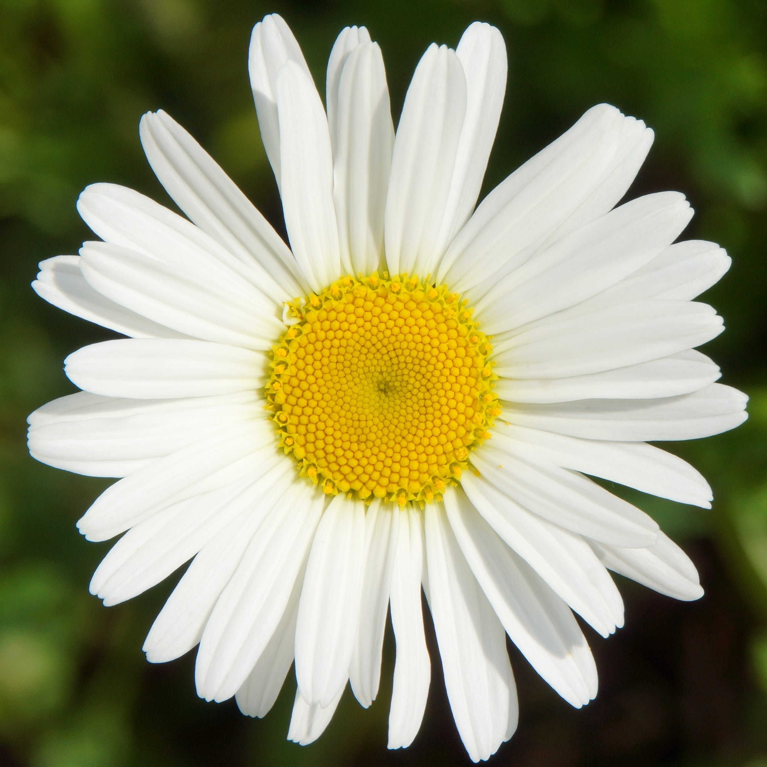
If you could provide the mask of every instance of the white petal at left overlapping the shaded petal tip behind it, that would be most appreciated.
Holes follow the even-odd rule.
[[[234,291],[190,269],[163,264],[107,242],[87,242],[80,268],[115,303],[188,336],[269,351],[285,331],[275,304],[258,291]]]

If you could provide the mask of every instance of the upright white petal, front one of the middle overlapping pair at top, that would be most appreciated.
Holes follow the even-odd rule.
[[[332,59],[331,54],[331,64]],[[384,58],[378,45],[368,42],[350,51],[337,78],[331,141],[341,263],[346,272],[367,275],[379,268],[384,252],[384,207],[394,140]],[[328,109],[330,104],[329,74]]]

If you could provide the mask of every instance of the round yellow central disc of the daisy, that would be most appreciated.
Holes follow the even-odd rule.
[[[430,502],[500,414],[466,301],[417,278],[334,282],[294,301],[266,387],[281,446],[325,492]]]

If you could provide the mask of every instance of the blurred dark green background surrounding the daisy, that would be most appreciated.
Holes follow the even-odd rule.
[[[712,483],[712,512],[637,500],[690,553],[706,596],[680,604],[621,581],[627,625],[610,640],[589,630],[601,691],[581,711],[512,648],[522,716],[494,762],[767,767],[763,0],[0,0],[0,765],[468,762],[431,634],[430,702],[405,752],[385,747],[390,636],[377,703],[364,711],[347,693],[313,746],[285,742],[291,681],[263,720],[233,701],[198,700],[193,653],[153,667],[140,651],[173,583],[109,609],[87,593],[108,544],[84,542],[74,522],[106,482],[25,451],[25,416],[73,388],[66,354],[109,337],[33,294],[37,262],[92,236],[74,209],[88,183],[169,202],[140,150],[144,111],[162,107],[183,123],[284,231],[246,70],[252,25],[274,11],[321,92],[338,31],[367,25],[384,51],[395,122],[430,41],[454,46],[477,18],[497,25],[510,77],[485,191],[598,102],[655,129],[630,195],[683,191],[697,210],[686,236],[732,255],[703,299],[728,331],[705,351],[723,382],[752,397],[736,432],[670,446]]]

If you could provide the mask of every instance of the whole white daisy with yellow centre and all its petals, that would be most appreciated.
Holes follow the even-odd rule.
[[[255,26],[255,107],[291,249],[167,114],[140,136],[189,220],[112,184],[78,202],[101,242],[41,263],[42,298],[130,338],[66,360],[80,393],[29,418],[35,458],[121,477],[78,522],[125,533],[91,591],[117,604],[192,558],[144,650],[199,643],[206,700],[264,716],[295,660],[288,737],[316,739],[347,681],[369,706],[387,609],[389,747],[418,732],[426,593],[469,756],[517,723],[505,635],[569,703],[597,692],[573,611],[623,624],[608,569],[678,599],[692,562],[586,475],[709,507],[706,481],[647,444],[737,426],[746,397],[693,347],[692,299],[729,266],[671,243],[679,193],[614,207],[652,143],[588,110],[474,211],[505,92],[499,31],[472,24],[416,67],[395,135],[384,62],[341,32],[327,114],[277,15]],[[473,211],[473,212],[472,212]]]

